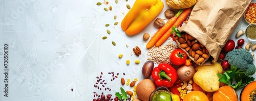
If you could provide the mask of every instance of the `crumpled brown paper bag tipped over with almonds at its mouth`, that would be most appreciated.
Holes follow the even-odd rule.
[[[209,51],[211,62],[216,62],[250,2],[251,0],[199,0],[191,11],[187,24],[178,29],[196,38]]]

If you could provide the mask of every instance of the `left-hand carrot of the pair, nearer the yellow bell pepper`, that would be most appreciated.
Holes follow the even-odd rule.
[[[158,31],[155,33],[155,35],[148,41],[146,44],[146,48],[151,48],[155,45],[155,43],[164,35],[164,33],[172,27],[172,25],[175,23],[175,21],[178,19],[178,17],[181,15],[184,9],[181,9],[174,17],[170,18],[164,26],[158,29]]]

